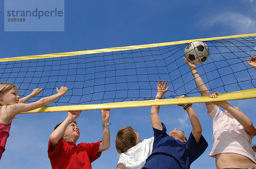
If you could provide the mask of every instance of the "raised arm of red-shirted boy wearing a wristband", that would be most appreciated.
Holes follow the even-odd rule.
[[[109,123],[110,109],[102,110],[102,124]],[[98,152],[103,152],[110,147],[109,125],[103,126],[102,142],[99,144]]]

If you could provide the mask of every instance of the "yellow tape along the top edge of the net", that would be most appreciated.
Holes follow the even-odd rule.
[[[154,47],[167,46],[167,45],[177,45],[177,44],[193,42],[196,40],[208,41],[208,40],[228,39],[228,38],[237,38],[237,37],[253,37],[253,36],[256,36],[256,33],[255,34],[232,35],[232,36],[225,36],[225,37],[191,39],[191,40],[182,40],[182,41],[175,41],[175,42],[153,43],[153,44],[148,44],[148,45],[133,45],[133,46],[116,47],[116,48],[87,50],[87,51],[64,52],[64,53],[57,53],[57,54],[11,57],[11,58],[0,59],[0,62],[29,60],[29,59],[43,59],[43,58],[53,58],[53,57],[62,57],[62,56],[76,56],[76,55],[96,54],[96,53],[114,52],[114,51],[126,51],[126,50],[133,50],[133,49],[143,49],[143,48],[154,48]]]

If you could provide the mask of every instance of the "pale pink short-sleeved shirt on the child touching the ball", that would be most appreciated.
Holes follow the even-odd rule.
[[[212,118],[212,151],[209,156],[214,157],[219,153],[236,153],[250,158],[256,163],[254,151],[250,144],[254,135],[248,135],[244,127],[235,119],[225,115],[215,106],[211,113]]]

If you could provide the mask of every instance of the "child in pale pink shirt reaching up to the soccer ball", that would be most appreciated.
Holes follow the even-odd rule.
[[[195,64],[188,62],[185,57],[184,60],[189,65],[202,96],[216,98],[219,93],[210,95]],[[207,114],[212,118],[213,129],[213,147],[209,156],[215,158],[217,169],[256,167],[256,159],[250,146],[252,138],[256,135],[252,121],[238,107],[233,107],[226,101],[205,104]],[[223,108],[224,112],[218,106]]]

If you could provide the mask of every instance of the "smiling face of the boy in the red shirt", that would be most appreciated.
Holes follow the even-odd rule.
[[[76,143],[76,141],[79,139],[79,136],[80,136],[79,128],[74,122],[72,122],[67,126],[67,129],[65,130],[62,139],[66,142],[71,141]]]

